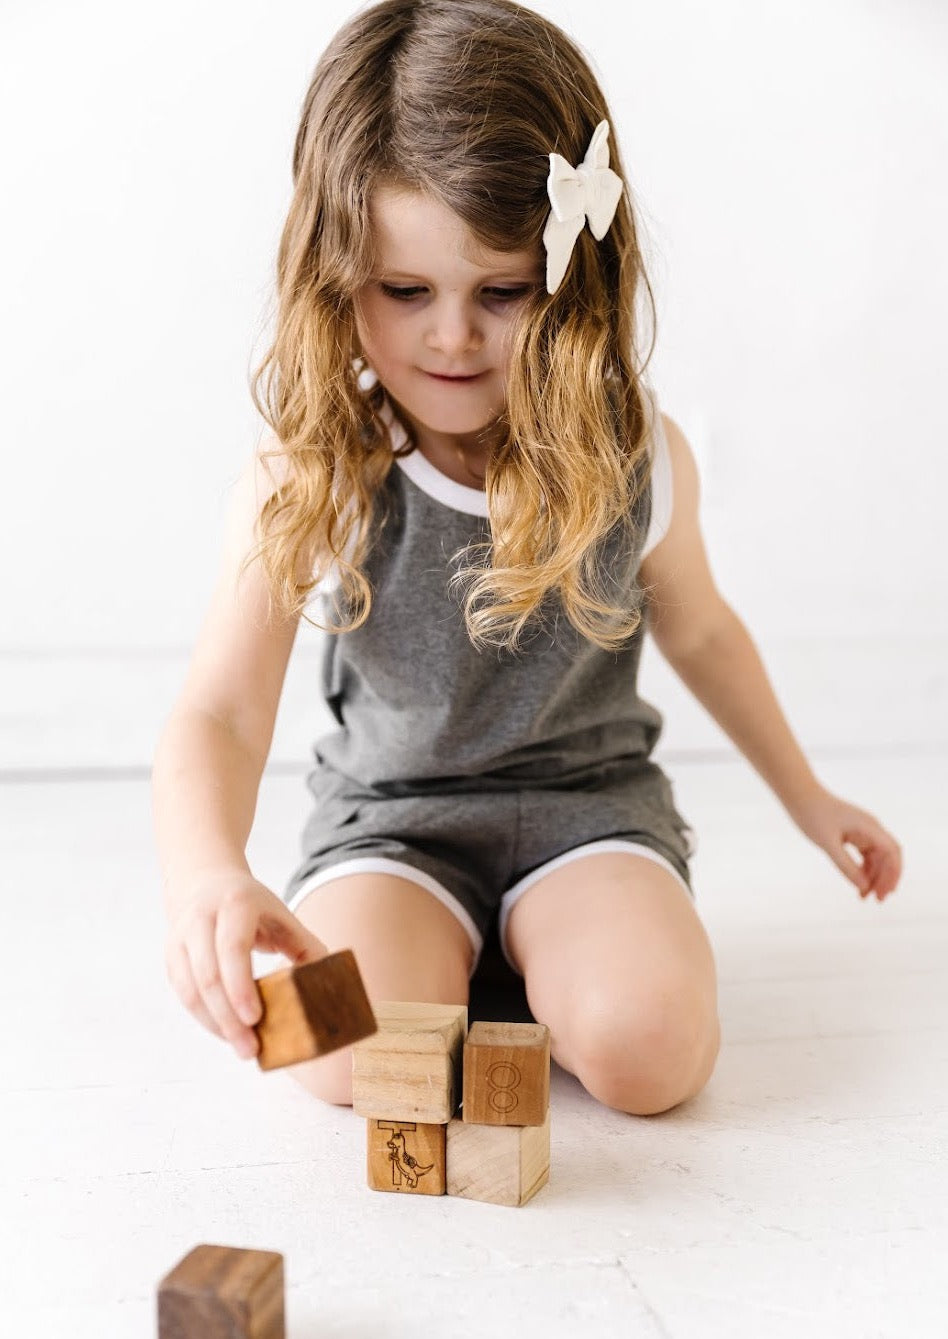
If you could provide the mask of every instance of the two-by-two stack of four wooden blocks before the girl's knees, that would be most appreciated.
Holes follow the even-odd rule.
[[[378,1031],[352,1047],[370,1186],[526,1204],[549,1180],[549,1028],[469,1031],[462,1004],[374,1007]]]

